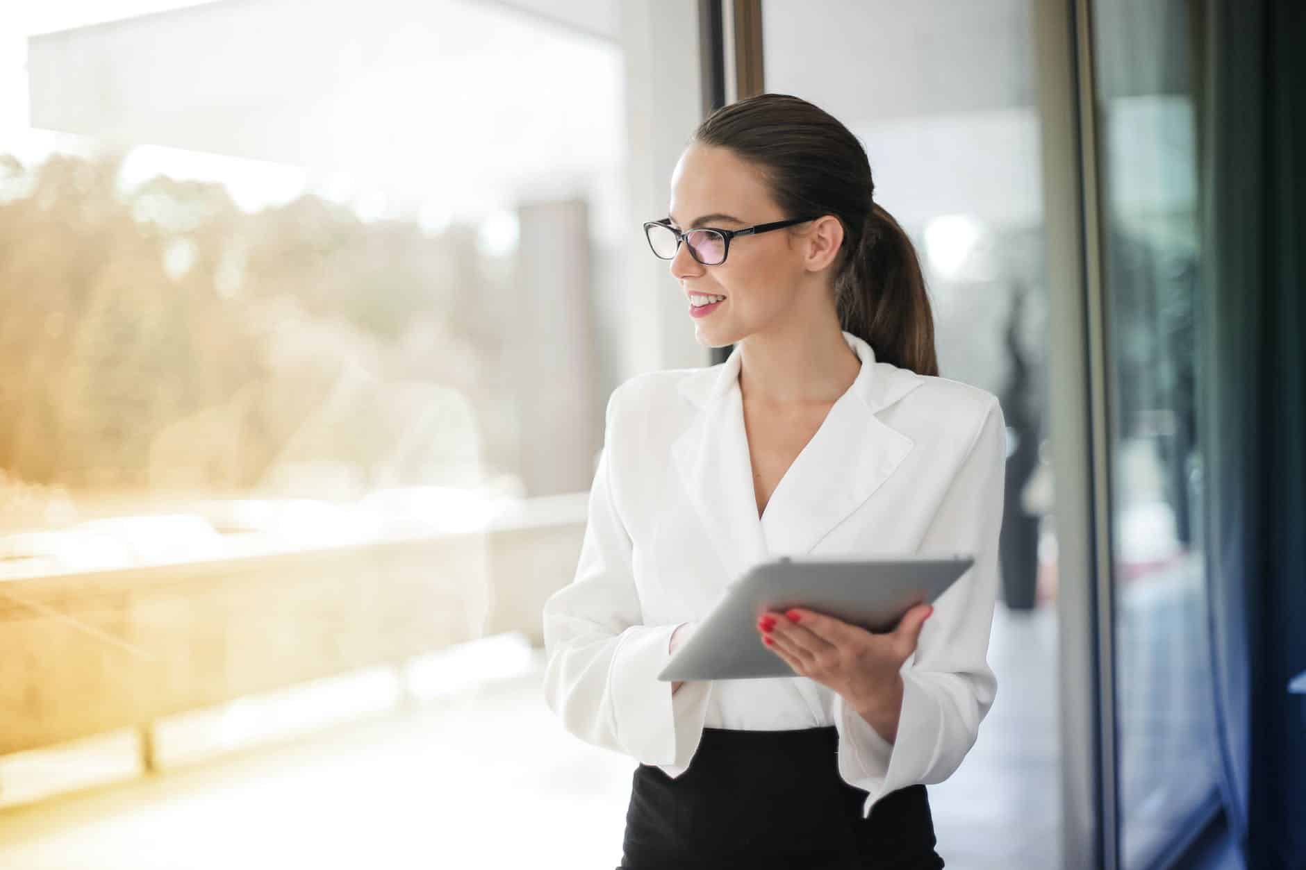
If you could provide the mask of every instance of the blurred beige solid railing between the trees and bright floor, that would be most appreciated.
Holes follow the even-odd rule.
[[[542,643],[585,494],[483,528],[0,581],[0,755],[505,631]],[[148,764],[146,764],[148,767]]]

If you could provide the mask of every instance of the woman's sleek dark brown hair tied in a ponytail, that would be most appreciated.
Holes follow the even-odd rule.
[[[938,375],[934,316],[916,247],[882,205],[866,149],[828,112],[789,94],[757,94],[712,112],[690,144],[726,148],[757,166],[789,216],[833,214],[844,225],[835,308],[875,358]]]

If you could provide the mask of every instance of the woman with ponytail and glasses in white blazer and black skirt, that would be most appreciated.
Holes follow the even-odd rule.
[[[699,342],[734,350],[613,392],[576,577],[543,610],[549,707],[639,762],[623,867],[943,866],[925,784],[996,690],[1006,430],[993,395],[938,378],[874,191],[848,128],[763,94],[703,121],[645,225]],[[656,677],[757,562],[952,553],[973,567],[891,634],[763,614],[797,677]]]

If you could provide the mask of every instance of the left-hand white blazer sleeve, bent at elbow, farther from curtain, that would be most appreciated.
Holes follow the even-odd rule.
[[[646,626],[635,588],[632,542],[614,499],[623,440],[618,393],[607,401],[603,448],[572,581],[545,602],[545,701],[586,743],[644,764],[687,767],[707,717],[710,682],[673,696],[657,678],[677,624]]]

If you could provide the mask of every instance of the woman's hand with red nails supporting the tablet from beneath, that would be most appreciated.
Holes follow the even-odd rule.
[[[893,700],[901,704],[902,679],[899,671],[916,652],[931,613],[932,606],[917,605],[892,632],[875,634],[806,607],[767,611],[757,619],[759,643],[765,643],[797,674],[842,695],[863,717],[882,716],[888,712],[885,707],[895,707],[896,722]]]

